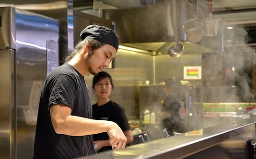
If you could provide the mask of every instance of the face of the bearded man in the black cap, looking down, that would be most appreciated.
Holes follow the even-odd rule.
[[[116,49],[108,44],[96,49],[94,52],[89,52],[87,56],[87,64],[89,72],[97,75],[105,68],[109,67],[110,62],[116,57]]]

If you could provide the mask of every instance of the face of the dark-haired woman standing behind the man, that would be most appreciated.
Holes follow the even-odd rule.
[[[111,94],[112,85],[108,77],[105,77],[98,81],[94,85],[94,91],[99,98],[107,98]]]

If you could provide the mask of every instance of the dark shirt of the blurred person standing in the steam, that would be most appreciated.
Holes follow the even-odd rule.
[[[186,132],[185,108],[185,97],[177,97],[174,95],[168,95],[165,97],[162,105],[162,111],[171,113],[171,117],[163,119],[163,128],[166,128],[170,135],[174,135],[174,132]]]

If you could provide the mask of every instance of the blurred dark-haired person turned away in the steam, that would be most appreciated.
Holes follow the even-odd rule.
[[[186,97],[181,82],[176,77],[170,77],[164,84],[165,99],[161,112],[158,115],[162,118],[163,128],[173,136],[176,133],[185,133]]]

